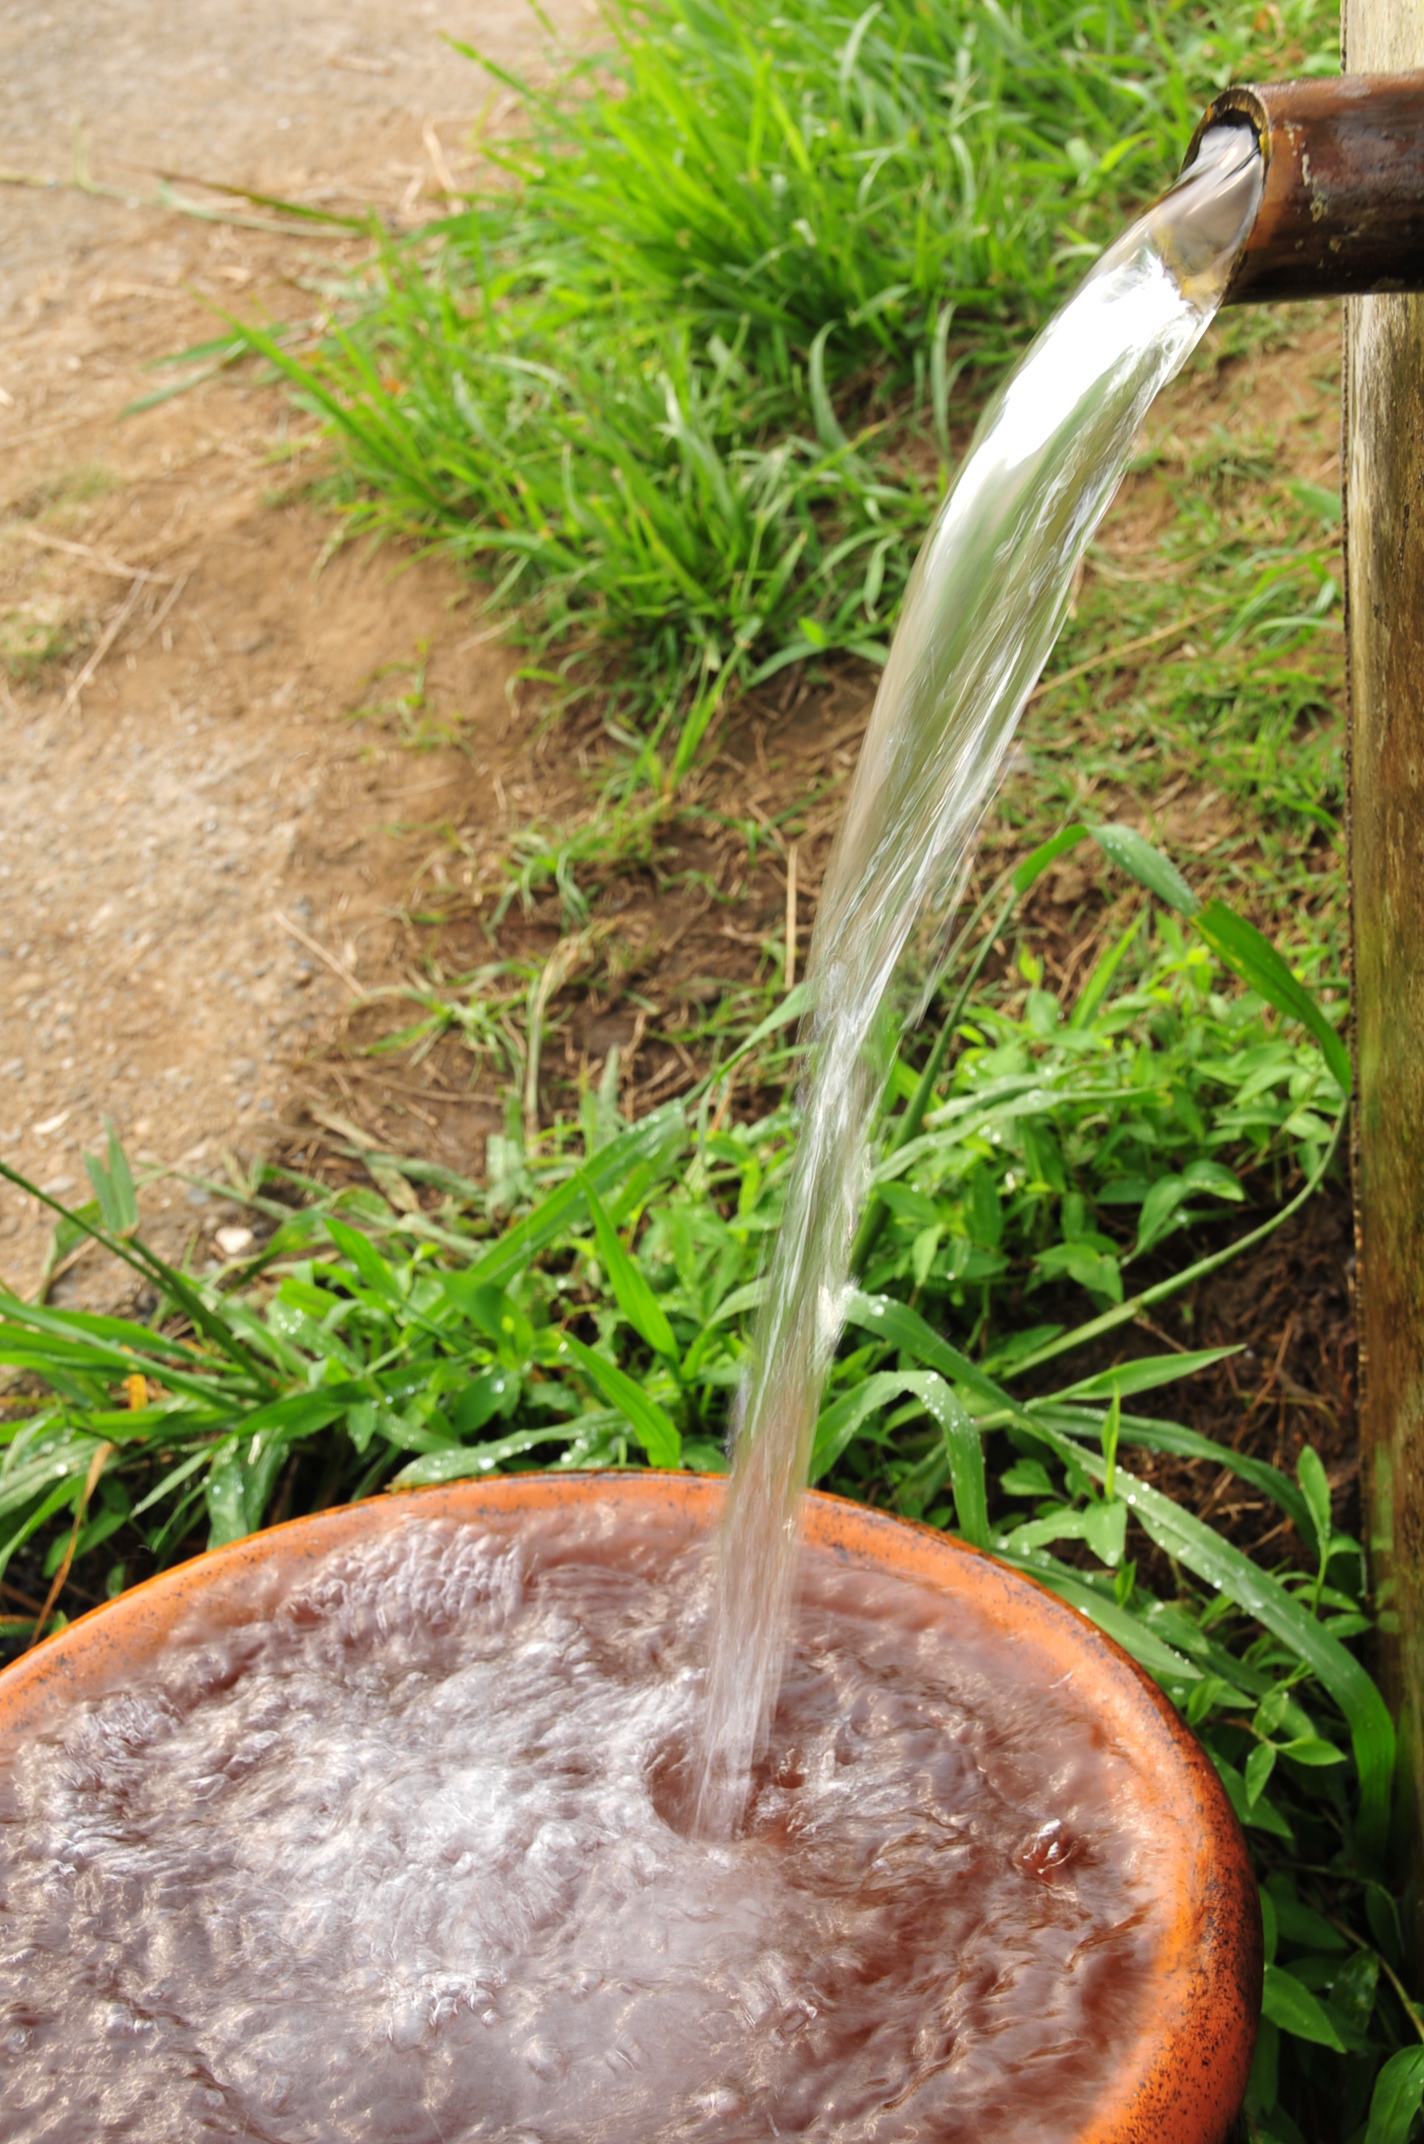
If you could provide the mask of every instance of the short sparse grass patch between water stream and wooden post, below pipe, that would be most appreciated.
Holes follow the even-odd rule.
[[[1195,840],[1197,868],[1295,948],[1327,948],[1338,973],[1340,502],[1297,474],[1302,446],[1319,452],[1325,433],[1334,444],[1334,362],[1321,360],[1330,377],[1310,382],[1304,442],[1272,429],[1276,412],[1252,397],[1250,369],[1233,397],[1216,386],[1252,343],[1270,356],[1312,328],[1308,313],[1229,319],[1154,420],[1139,489],[1124,502],[1126,517],[1134,504],[1152,517],[1152,534],[1124,553],[1109,519],[1089,553],[1049,688],[1021,729],[1029,765],[1006,798],[1004,832],[1032,838],[1083,795],[1111,798],[1149,825],[1175,793],[1205,798],[1216,838]],[[1199,388],[1214,392],[1218,414],[1205,440],[1184,444],[1171,427]]]

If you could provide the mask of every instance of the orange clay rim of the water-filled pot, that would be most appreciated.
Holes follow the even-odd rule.
[[[195,1636],[247,1623],[305,1565],[416,1512],[515,1531],[525,1512],[611,1501],[691,1542],[714,1527],[723,1488],[716,1475],[686,1473],[504,1475],[287,1520],[161,1572],[4,1668],[0,1752],[43,1732],[71,1702],[129,1685],[178,1627]],[[821,1492],[806,1497],[804,1533],[815,1548],[954,1595],[1002,1634],[1032,1640],[1044,1683],[1074,1677],[1104,1732],[1130,1750],[1182,1852],[1147,2024],[1072,2144],[1222,2144],[1257,2035],[1261,1910],[1242,1829],[1201,1743],[1122,1647],[995,1557]]]

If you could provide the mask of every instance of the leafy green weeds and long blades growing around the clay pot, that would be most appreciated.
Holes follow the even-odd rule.
[[[1336,1529],[1310,1447],[1289,1477],[1139,1413],[1222,1351],[1128,1353],[1087,1374],[1070,1361],[1319,1186],[1347,1108],[1338,1012],[1122,828],[1096,838],[1154,900],[1077,999],[1042,988],[1025,939],[1021,1008],[976,995],[1014,905],[1081,838],[1064,830],[982,907],[939,1038],[929,1053],[905,1038],[813,1473],[1019,1563],[1158,1679],[1212,1752],[1261,1876],[1255,2135],[1368,2125],[1370,2144],[1405,2144],[1424,2020],[1385,1880],[1394,1734],[1351,1649],[1368,1629],[1360,1544]],[[229,1542],[380,1486],[723,1466],[796,1108],[738,1123],[718,1102],[791,1012],[693,1106],[626,1126],[609,1085],[538,1147],[515,1108],[485,1188],[397,1156],[371,1160],[390,1196],[268,1168],[247,1196],[270,1233],[225,1278],[144,1246],[112,1143],[90,1160],[92,1205],[62,1224],[127,1259],[152,1308],[0,1301],[0,1359],[26,1381],[0,1428],[0,1565],[41,1542],[60,1580],[116,1539],[161,1565],[195,1531]],[[1141,1261],[1158,1271],[1165,1246],[1182,1263],[1143,1286]],[[1042,1319],[1040,1291],[1077,1299],[1077,1323]],[[1139,1449],[1237,1473],[1302,1559],[1246,1557],[1134,1475]],[[1145,1576],[1149,1550],[1167,1584]]]

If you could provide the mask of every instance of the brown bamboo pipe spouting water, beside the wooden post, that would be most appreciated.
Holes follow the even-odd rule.
[[[1261,208],[1225,304],[1424,289],[1424,73],[1237,84],[1201,116],[1250,126]]]

